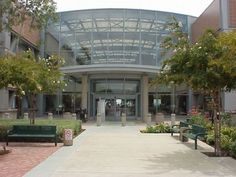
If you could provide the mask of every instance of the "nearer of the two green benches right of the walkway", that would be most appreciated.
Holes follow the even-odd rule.
[[[193,139],[195,141],[195,149],[197,149],[197,139],[203,139],[206,135],[206,129],[199,125],[191,125],[191,128],[185,129],[182,136]]]

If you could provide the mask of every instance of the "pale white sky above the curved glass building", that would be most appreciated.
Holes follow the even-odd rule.
[[[175,12],[198,17],[213,0],[54,0],[57,11],[130,8]]]

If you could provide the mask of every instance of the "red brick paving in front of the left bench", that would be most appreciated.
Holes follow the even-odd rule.
[[[0,149],[5,144],[0,142]],[[54,143],[15,143],[10,142],[7,149],[10,153],[0,155],[0,176],[1,177],[21,177],[40,162],[47,159],[56,152],[62,143],[57,147]]]

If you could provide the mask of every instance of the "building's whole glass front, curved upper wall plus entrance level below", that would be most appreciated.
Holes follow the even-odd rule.
[[[95,9],[61,12],[58,17],[45,30],[43,46],[44,55],[60,55],[65,59],[63,68],[68,69],[68,86],[58,92],[56,107],[60,105],[68,112],[86,107],[95,119],[97,103],[102,99],[107,120],[120,120],[122,112],[128,119],[144,117],[145,105],[153,114],[186,113],[187,91],[177,93],[169,87],[144,89],[142,78],[155,77],[164,60],[160,44],[170,33],[166,24],[174,17],[188,33],[188,16],[149,10]],[[102,69],[95,68],[98,66]],[[132,72],[124,69],[127,66]],[[132,74],[135,79],[130,77]],[[82,83],[85,75],[86,83]],[[144,95],[148,95],[147,103]],[[55,107],[55,102],[50,104]]]

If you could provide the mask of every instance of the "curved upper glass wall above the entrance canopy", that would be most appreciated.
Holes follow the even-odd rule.
[[[160,11],[97,9],[58,13],[46,29],[47,54],[66,65],[133,64],[160,66],[166,23],[174,16],[188,32],[188,16]]]

